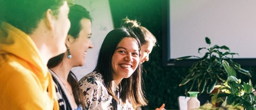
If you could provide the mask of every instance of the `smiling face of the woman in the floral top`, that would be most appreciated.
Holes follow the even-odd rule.
[[[134,38],[124,37],[112,57],[113,79],[116,83],[130,77],[138,67],[139,46]]]

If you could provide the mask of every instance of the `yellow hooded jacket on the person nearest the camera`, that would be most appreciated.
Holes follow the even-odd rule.
[[[48,91],[48,92],[47,92]],[[58,110],[54,82],[30,36],[0,29],[0,110]]]

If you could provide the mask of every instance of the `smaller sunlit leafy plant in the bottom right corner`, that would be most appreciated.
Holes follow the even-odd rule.
[[[218,92],[212,94],[212,104],[224,102],[224,97],[226,104],[242,106],[246,110],[256,110],[256,96],[253,94],[256,86],[253,87],[251,80],[248,83],[241,83],[241,80],[236,78],[235,69],[226,60],[222,62],[228,78],[220,86]]]

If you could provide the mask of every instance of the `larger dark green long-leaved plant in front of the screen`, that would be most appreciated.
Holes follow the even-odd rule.
[[[193,63],[189,69],[188,75],[182,80],[179,86],[187,84],[189,88],[185,89],[185,94],[187,91],[191,91],[192,88],[196,87],[201,93],[211,93],[214,89],[214,86],[217,83],[222,83],[227,80],[227,73],[222,65],[222,60],[226,59],[230,65],[240,73],[246,74],[251,77],[249,71],[244,70],[236,62],[233,62],[233,55],[238,55],[237,53],[231,53],[229,48],[225,45],[211,46],[211,40],[208,37],[205,37],[205,42],[209,44],[209,48],[202,47],[198,48],[198,53],[202,49],[206,49],[206,52],[203,57],[199,56],[183,56],[175,59],[184,60],[188,58],[198,58],[198,61]],[[197,86],[196,86],[197,85]],[[195,91],[195,90],[193,90]]]

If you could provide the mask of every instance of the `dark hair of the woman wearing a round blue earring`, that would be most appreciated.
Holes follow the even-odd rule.
[[[75,39],[79,37],[79,33],[82,30],[81,20],[92,19],[89,14],[89,11],[87,11],[86,8],[79,6],[77,4],[70,7],[68,18],[71,23],[71,27],[69,29],[68,34]],[[58,56],[55,56],[54,58],[51,58],[47,63],[48,68],[53,68],[58,66],[62,62],[63,58],[64,58],[64,53]],[[83,98],[82,90],[79,89],[78,81],[75,75],[72,74],[71,71],[68,74],[68,83],[71,84],[71,87],[73,90],[72,92],[74,94],[76,104],[81,104],[82,106],[84,106],[85,104],[82,99]]]

